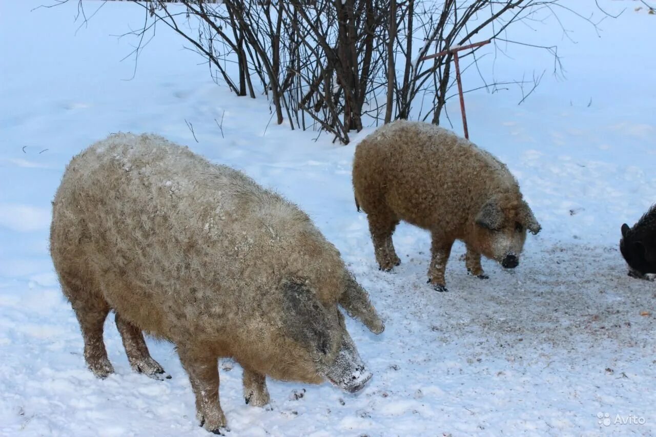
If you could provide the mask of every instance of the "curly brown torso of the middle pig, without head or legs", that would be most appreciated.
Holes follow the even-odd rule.
[[[384,203],[401,220],[428,229],[460,226],[489,193],[519,189],[503,163],[469,140],[404,120],[358,144],[354,188],[365,211]]]

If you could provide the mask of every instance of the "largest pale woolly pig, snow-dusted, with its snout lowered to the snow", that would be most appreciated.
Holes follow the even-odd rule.
[[[56,192],[51,253],[85,360],[113,368],[110,312],[134,370],[163,369],[142,331],[176,345],[210,431],[226,426],[217,358],[243,367],[247,404],[269,402],[265,375],[361,388],[371,373],[338,304],[384,329],[367,292],[310,218],[243,173],[154,135],[112,135],[73,157]]]

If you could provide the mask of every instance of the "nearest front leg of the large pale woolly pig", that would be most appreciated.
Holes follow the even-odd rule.
[[[218,402],[218,359],[182,348],[178,348],[178,354],[196,396],[196,418],[201,427],[223,435],[228,428],[226,415]]]

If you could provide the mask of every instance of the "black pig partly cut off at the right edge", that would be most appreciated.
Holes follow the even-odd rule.
[[[656,205],[632,228],[622,225],[619,249],[628,264],[629,276],[647,280],[646,274],[656,273]]]

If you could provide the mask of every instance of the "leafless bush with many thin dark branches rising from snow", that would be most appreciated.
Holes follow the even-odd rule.
[[[182,7],[166,0],[125,1],[146,11],[144,26],[131,32],[139,41],[163,23],[204,56],[215,80],[235,94],[266,93],[277,123],[286,119],[292,129],[327,131],[345,144],[365,119],[440,123],[445,103],[457,95],[451,92],[453,53],[427,55],[477,39],[491,39],[495,51],[502,50],[499,43],[528,45],[508,39],[508,28],[549,16],[560,23],[558,14],[577,14],[564,0],[180,0]],[[578,16],[596,30],[591,16]],[[562,70],[556,46],[531,47],[553,56],[554,73]],[[479,68],[477,51],[459,54],[464,70]],[[522,101],[541,77],[488,83],[481,74],[492,91],[518,85]]]

